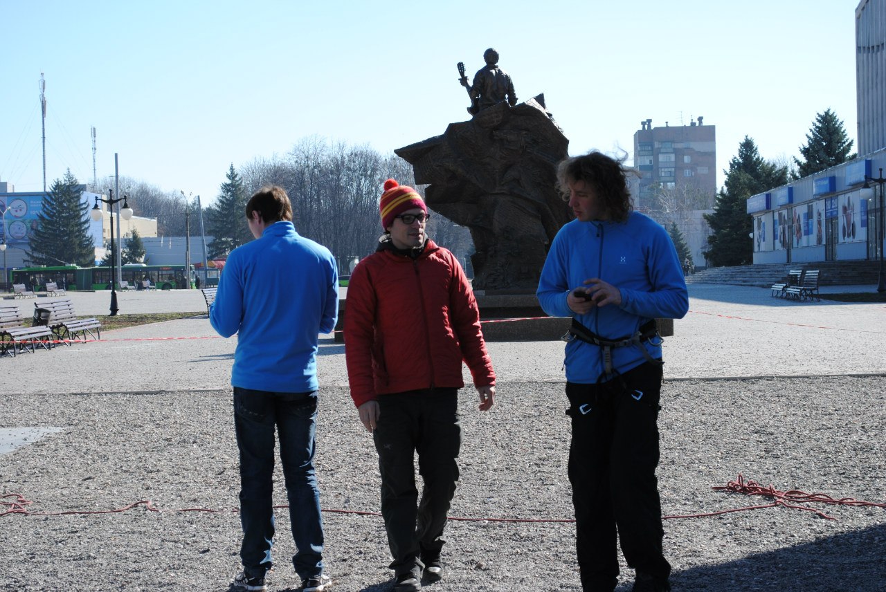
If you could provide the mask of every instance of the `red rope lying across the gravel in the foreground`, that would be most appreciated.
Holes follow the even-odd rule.
[[[875,502],[865,502],[862,500],[857,500],[853,497],[841,497],[835,498],[828,496],[823,493],[813,493],[808,494],[804,491],[800,491],[798,489],[790,489],[789,491],[779,491],[774,488],[773,485],[769,485],[764,487],[760,485],[757,481],[745,481],[744,477],[741,473],[738,475],[738,479],[736,481],[729,481],[725,486],[712,487],[713,491],[728,491],[735,494],[741,494],[743,496],[765,496],[771,497],[773,502],[771,504],[759,504],[759,505],[749,505],[742,508],[730,508],[727,510],[720,511],[711,511],[711,512],[703,512],[698,514],[680,514],[680,515],[672,515],[672,516],[662,516],[664,520],[670,519],[690,519],[690,518],[710,518],[712,516],[721,516],[723,514],[733,513],[737,511],[750,511],[750,510],[762,510],[764,508],[775,508],[778,506],[782,506],[785,508],[789,508],[791,510],[803,510],[803,511],[812,511],[813,513],[820,516],[820,518],[828,519],[828,520],[836,520],[832,516],[828,516],[828,514],[820,511],[817,508],[809,507],[807,505],[797,505],[797,503],[803,504],[829,504],[829,505],[845,505],[845,506],[853,506],[853,507],[875,507],[875,508],[886,508],[886,504],[879,504]],[[7,498],[14,498],[12,501],[4,501]],[[144,506],[144,509],[147,511],[202,511],[208,513],[236,513],[239,510],[236,508],[229,510],[214,510],[211,508],[179,508],[177,510],[164,510],[156,507],[151,500],[141,500],[139,502],[135,502],[133,504],[128,504],[122,508],[117,508],[115,510],[70,510],[70,511],[51,511],[51,512],[37,512],[30,511],[28,508],[33,505],[34,502],[26,499],[24,496],[20,494],[5,494],[0,496],[0,508],[8,508],[6,511],[0,511],[0,517],[9,516],[12,514],[24,514],[26,516],[66,516],[71,514],[113,514],[119,513],[123,511],[132,510],[138,506]],[[274,509],[284,509],[289,508],[288,505],[275,505]],[[352,514],[357,516],[377,516],[380,517],[381,513],[377,511],[361,511],[361,510],[340,510],[340,509],[323,509],[323,512],[334,513],[334,514]],[[560,519],[560,518],[551,518],[551,519],[543,519],[543,518],[468,518],[468,517],[458,517],[458,516],[450,516],[448,519],[454,521],[461,522],[509,522],[509,523],[571,523],[575,522],[575,519]]]

